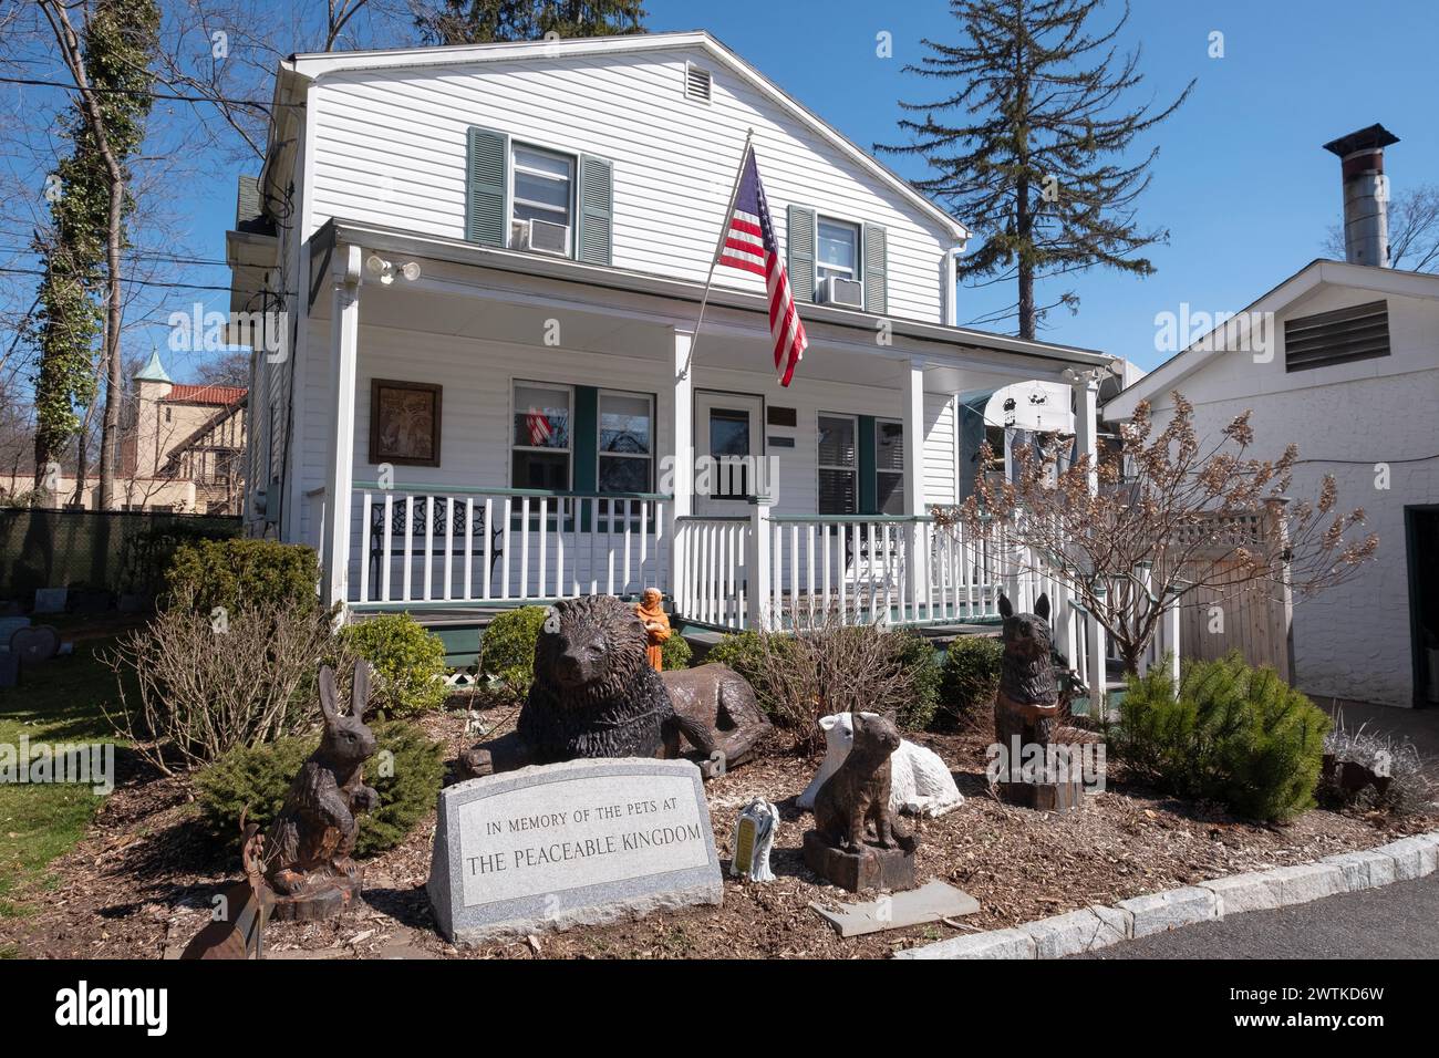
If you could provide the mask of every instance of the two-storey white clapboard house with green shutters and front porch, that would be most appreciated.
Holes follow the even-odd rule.
[[[974,462],[961,399],[1058,384],[1092,443],[1075,379],[1109,357],[957,327],[966,227],[707,33],[301,55],[273,102],[273,235],[229,236],[235,304],[288,327],[250,531],[315,546],[350,615],[646,586],[720,629],[991,615],[1003,571],[927,517]],[[789,389],[761,278],[720,268],[695,331],[750,130]]]

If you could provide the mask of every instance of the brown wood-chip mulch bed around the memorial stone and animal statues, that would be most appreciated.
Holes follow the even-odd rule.
[[[463,715],[427,717],[433,737],[458,751]],[[770,756],[708,785],[711,819],[728,869],[735,815],[753,796],[781,812],[771,864],[777,880],[725,878],[724,905],[650,915],[604,927],[456,950],[433,930],[425,882],[435,819],[403,845],[370,859],[364,904],[338,921],[275,923],[268,957],[578,957],[578,959],[853,959],[1043,918],[1089,904],[1187,885],[1240,871],[1302,864],[1334,852],[1371,848],[1432,829],[1435,818],[1308,812],[1282,828],[1245,823],[1212,805],[1160,796],[1109,763],[1107,790],[1081,812],[1046,815],[1009,808],[990,796],[983,730],[911,736],[951,766],[966,803],[918,828],[921,880],[938,878],[974,895],[980,911],[963,926],[931,924],[840,939],[809,905],[848,903],[800,856],[807,812],[794,808],[817,760]],[[14,894],[30,908],[0,918],[0,947],[30,957],[174,956],[204,926],[210,897],[239,877],[193,825],[189,785],[157,779],[130,760],[91,835],[50,865],[58,880],[43,892]]]

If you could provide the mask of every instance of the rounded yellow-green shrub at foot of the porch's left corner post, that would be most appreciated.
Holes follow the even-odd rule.
[[[409,613],[380,613],[345,625],[340,648],[347,658],[370,662],[370,708],[404,715],[445,704],[445,643]]]

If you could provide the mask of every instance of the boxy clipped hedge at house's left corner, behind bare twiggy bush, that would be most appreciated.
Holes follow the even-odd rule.
[[[319,609],[319,563],[314,548],[236,537],[197,540],[176,548],[165,571],[165,606],[230,613],[250,606]]]

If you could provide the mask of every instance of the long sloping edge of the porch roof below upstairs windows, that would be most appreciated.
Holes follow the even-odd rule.
[[[509,272],[519,276],[551,279],[568,285],[600,291],[617,291],[633,295],[662,298],[668,302],[694,305],[698,312],[704,297],[704,284],[646,272],[635,272],[623,268],[586,265],[567,258],[551,258],[535,253],[522,253],[508,249],[494,249],[478,246],[462,239],[450,239],[419,233],[400,227],[390,227],[367,222],[354,222],[342,217],[332,217],[311,239],[312,276],[319,276],[322,262],[337,246],[360,246],[366,250],[384,253],[399,253],[429,261],[439,261],[462,266],[475,266]],[[318,286],[317,286],[318,291]],[[763,295],[747,294],[724,286],[712,286],[709,291],[709,307],[731,309],[740,314],[757,315],[767,321],[768,304]],[[668,317],[668,318],[666,318]],[[681,315],[673,311],[673,305],[653,307],[656,321],[672,322],[684,328],[694,324],[694,315]],[[869,312],[836,308],[833,305],[806,304],[803,318],[812,331],[817,327],[833,328],[836,334],[852,333],[849,341],[863,341],[873,344],[876,322],[884,318],[889,322],[896,338],[915,343],[907,347],[904,354],[918,353],[924,357],[934,357],[937,364],[955,358],[967,361],[974,354],[1003,357],[1022,357],[1022,363],[1033,364],[1036,373],[1058,373],[1065,367],[1104,367],[1114,361],[1114,357],[1099,350],[1079,348],[1075,345],[1056,345],[1043,341],[1029,341],[1004,334],[993,334],[967,327],[948,327],[944,324],[930,324],[918,320],[904,320],[898,317],[876,317]],[[709,324],[707,322],[707,327]],[[859,337],[862,333],[863,338]],[[816,335],[817,337],[817,335]]]

